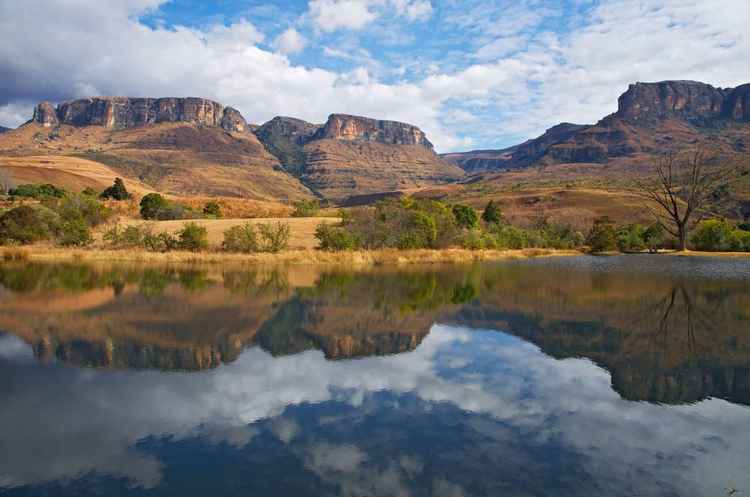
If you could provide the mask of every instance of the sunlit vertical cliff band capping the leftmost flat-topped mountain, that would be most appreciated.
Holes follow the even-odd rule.
[[[236,132],[248,128],[239,111],[204,98],[94,97],[63,102],[57,108],[42,102],[34,110],[33,121],[46,127],[67,124],[126,129],[185,122]]]

